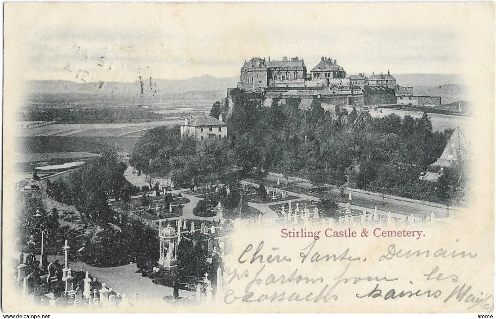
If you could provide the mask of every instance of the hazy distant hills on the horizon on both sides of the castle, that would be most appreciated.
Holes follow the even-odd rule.
[[[465,101],[462,78],[456,74],[393,74],[402,86],[413,86],[416,95],[440,96],[442,103]],[[193,99],[217,101],[226,96],[226,89],[236,87],[238,77],[203,75],[185,80],[145,79],[124,82],[77,83],[65,80],[33,80],[27,89],[32,97],[42,101],[81,101],[102,99],[113,101],[145,101]],[[151,83],[150,83],[151,82]],[[141,85],[143,94],[141,94]],[[40,95],[42,95],[40,97]],[[131,97],[131,98],[130,98]]]

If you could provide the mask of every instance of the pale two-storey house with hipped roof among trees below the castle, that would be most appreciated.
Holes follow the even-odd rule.
[[[186,118],[185,123],[181,125],[181,136],[195,136],[198,139],[226,137],[227,124],[222,122],[222,114],[218,120],[205,115]]]

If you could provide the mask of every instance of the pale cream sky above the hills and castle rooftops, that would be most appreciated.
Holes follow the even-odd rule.
[[[434,3],[7,3],[5,56],[15,56],[24,79],[76,82],[239,76],[251,57],[283,56],[303,58],[309,70],[329,57],[348,74],[458,73],[463,26],[455,12],[439,10]]]

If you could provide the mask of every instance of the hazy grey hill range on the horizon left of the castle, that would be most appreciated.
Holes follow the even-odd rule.
[[[151,82],[151,83],[150,83]],[[236,87],[238,77],[215,77],[203,75],[186,80],[144,79],[143,95],[163,96],[193,91],[218,91],[228,87]],[[139,81],[124,82],[89,82],[77,83],[65,80],[33,80],[27,84],[28,92],[65,94],[65,93],[93,93],[102,95],[140,95]]]

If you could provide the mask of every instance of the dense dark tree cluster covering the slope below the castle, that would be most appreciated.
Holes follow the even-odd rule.
[[[252,174],[259,179],[277,171],[305,177],[318,189],[348,183],[438,201],[450,197],[459,183],[445,182],[455,181],[455,176],[443,178],[439,183],[446,183],[445,195],[439,191],[443,187],[419,180],[452,133],[434,131],[427,113],[418,119],[395,114],[372,118],[355,108],[324,110],[316,98],[307,109],[299,109],[301,99],[292,97],[273,99],[266,108],[243,90],[230,94],[234,105],[229,117],[227,104],[216,102],[211,110],[212,116],[227,118],[228,138],[200,141],[181,138],[178,127],[156,128],[137,143],[131,165],[183,183],[191,178],[197,183],[219,181],[237,167],[240,178]],[[455,172],[461,168],[451,170]]]

